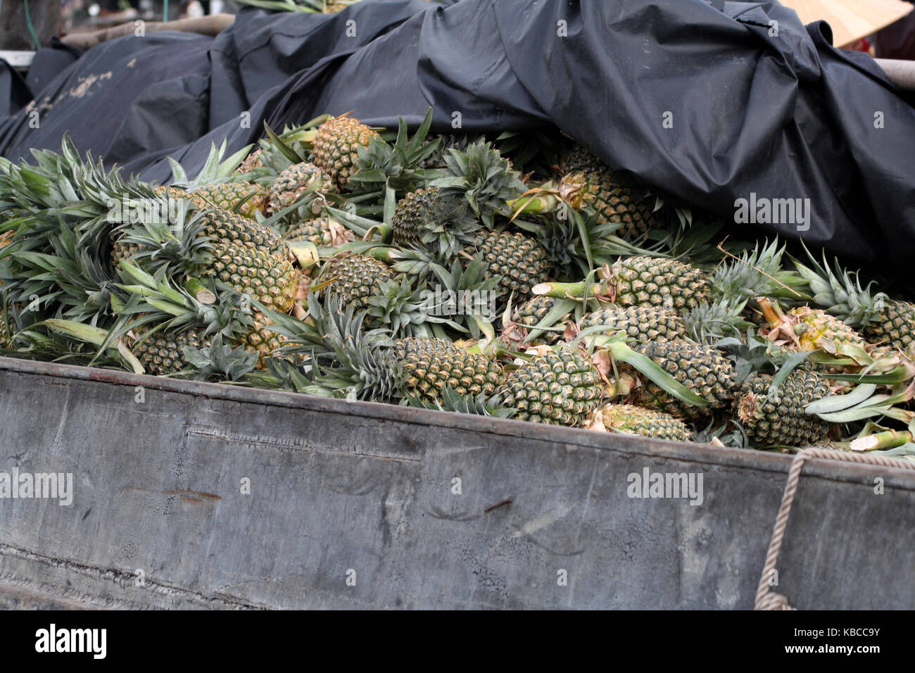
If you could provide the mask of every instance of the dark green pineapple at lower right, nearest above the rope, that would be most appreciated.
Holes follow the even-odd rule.
[[[745,381],[734,408],[748,438],[759,446],[802,447],[827,439],[830,424],[804,413],[804,407],[830,394],[817,374],[794,370],[770,397],[772,376],[760,374]]]

